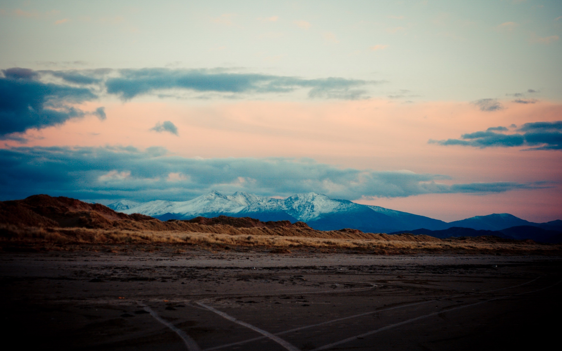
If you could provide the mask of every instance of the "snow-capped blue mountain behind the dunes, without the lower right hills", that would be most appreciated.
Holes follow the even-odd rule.
[[[124,208],[125,203],[111,204],[116,211],[142,213],[167,220],[170,218],[188,219],[197,216],[215,217],[218,215],[234,217],[253,217],[260,220],[303,221],[322,230],[355,227],[365,231],[400,230],[412,227],[404,218],[416,222],[422,220],[424,227],[441,229],[439,223],[432,218],[411,215],[410,213],[393,211],[378,206],[366,206],[349,200],[333,199],[323,194],[296,194],[286,199],[260,197],[245,192],[224,195],[210,192],[188,201],[155,200],[137,206]]]

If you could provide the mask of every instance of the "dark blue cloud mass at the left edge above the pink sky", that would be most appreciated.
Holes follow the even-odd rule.
[[[2,70],[0,77],[0,137],[26,129],[58,125],[84,112],[72,104],[97,96],[89,89],[42,83],[39,73],[19,67]]]

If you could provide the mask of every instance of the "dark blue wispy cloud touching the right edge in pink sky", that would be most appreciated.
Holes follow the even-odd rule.
[[[518,131],[523,132],[523,134],[501,134],[495,133],[493,130],[506,131],[507,128],[490,127],[487,131],[477,131],[475,133],[463,134],[461,135],[461,139],[430,139],[429,143],[439,145],[473,146],[479,148],[531,147],[525,149],[525,151],[562,150],[562,121],[525,123],[518,129]]]

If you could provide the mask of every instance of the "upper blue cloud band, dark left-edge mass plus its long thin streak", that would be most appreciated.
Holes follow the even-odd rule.
[[[271,58],[273,59],[273,58]],[[60,125],[70,118],[95,115],[106,118],[103,108],[84,112],[76,104],[93,101],[98,94],[117,95],[124,101],[142,94],[173,96],[178,91],[243,94],[291,93],[307,90],[309,98],[361,99],[366,86],[382,83],[337,77],[303,79],[291,76],[232,73],[224,69],[97,69],[0,70],[0,140],[25,140],[11,133]],[[162,90],[176,90],[165,93]],[[228,95],[227,95],[228,94]]]

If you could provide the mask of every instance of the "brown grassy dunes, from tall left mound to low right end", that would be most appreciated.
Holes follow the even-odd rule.
[[[498,250],[556,254],[562,248],[493,236],[438,239],[428,235],[363,233],[357,229],[320,231],[303,222],[261,222],[248,217],[197,217],[162,222],[138,213],[125,215],[101,204],[48,195],[0,202],[0,243],[3,247],[35,245],[47,249],[52,245],[172,244],[262,247],[272,253],[288,253],[288,248],[315,248],[383,254]]]

